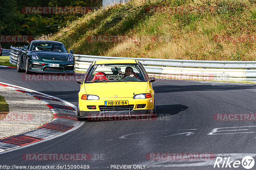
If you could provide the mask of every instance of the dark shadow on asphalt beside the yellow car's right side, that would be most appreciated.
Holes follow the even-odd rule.
[[[164,117],[170,115],[176,115],[180,111],[188,109],[187,106],[181,104],[159,105],[156,106],[156,116]]]

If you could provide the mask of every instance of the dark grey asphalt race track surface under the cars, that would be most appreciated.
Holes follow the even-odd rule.
[[[2,67],[0,74],[0,82],[77,104],[79,84],[76,81],[24,81],[24,73]],[[256,121],[217,121],[213,118],[215,114],[255,114],[256,85],[157,80],[153,82],[153,89],[156,120],[85,122],[75,131],[58,138],[0,154],[0,165],[89,165],[89,169],[145,165],[145,169],[208,170],[245,169],[242,165],[238,168],[213,168],[215,158],[220,155],[230,157],[230,160],[241,161],[245,156],[256,160]],[[35,161],[22,158],[24,154],[35,153],[89,153],[92,159]],[[150,153],[211,153],[215,157],[211,160],[163,158],[156,161],[148,160]],[[252,169],[256,169],[256,165]]]

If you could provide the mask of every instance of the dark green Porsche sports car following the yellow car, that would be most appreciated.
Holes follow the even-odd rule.
[[[34,40],[24,46],[18,55],[17,71],[45,73],[75,73],[73,51],[68,53],[58,41]]]

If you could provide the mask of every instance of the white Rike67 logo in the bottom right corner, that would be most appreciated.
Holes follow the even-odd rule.
[[[245,169],[251,169],[254,166],[254,159],[251,156],[245,156],[242,161],[240,160],[230,160],[230,157],[217,157],[214,163],[214,168],[238,168],[239,166],[243,166]]]

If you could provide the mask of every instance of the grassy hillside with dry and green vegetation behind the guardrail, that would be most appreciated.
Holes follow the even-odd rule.
[[[77,54],[256,60],[255,4],[256,0],[131,0],[87,13],[40,39],[61,41]]]

